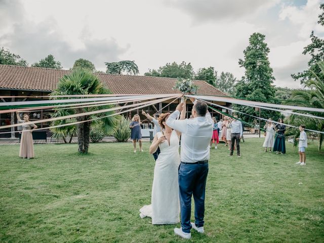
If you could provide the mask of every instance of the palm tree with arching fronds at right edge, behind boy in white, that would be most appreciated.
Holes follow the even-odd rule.
[[[324,61],[318,62],[318,65],[321,69],[322,74],[324,75]],[[309,88],[309,90],[302,89],[302,90],[293,91],[292,99],[285,103],[290,105],[299,105],[299,106],[307,106],[307,107],[324,109],[324,80],[321,79],[314,72],[313,72],[313,77],[314,77],[313,79],[310,79],[305,83],[305,87]],[[311,112],[311,111],[297,111],[297,112],[322,116],[322,113],[320,112]],[[291,115],[288,120],[290,124],[293,124],[295,126],[304,124],[306,126],[306,129],[324,132],[323,119],[317,119],[317,118],[305,117],[299,115]],[[324,141],[324,134],[314,133],[309,131],[306,131],[306,133],[310,137],[319,139],[318,150],[320,150],[322,143]],[[287,135],[297,137],[299,135],[299,131],[297,131],[296,129],[289,129]]]

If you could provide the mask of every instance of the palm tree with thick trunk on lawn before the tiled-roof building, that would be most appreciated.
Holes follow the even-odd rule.
[[[88,94],[111,94],[111,92],[104,88],[103,84],[100,82],[98,76],[94,75],[88,70],[85,69],[76,69],[71,72],[69,75],[64,75],[57,85],[57,89],[51,94],[52,96],[57,95],[88,95]],[[66,98],[56,98],[53,99],[66,99]],[[57,109],[55,110],[54,116],[61,116],[66,114],[75,114],[83,113],[94,110],[102,110],[111,108],[109,105],[101,105],[94,107],[79,107],[79,108],[70,108],[70,109]],[[108,116],[113,114],[113,111],[98,113],[94,115],[84,115],[76,117],[76,121],[85,121],[83,123],[77,124],[77,141],[78,141],[78,152],[79,153],[88,153],[89,142],[90,142],[90,125],[92,121],[89,119],[95,119],[94,122],[99,124],[104,131],[104,134],[111,134],[114,131],[114,128],[117,124],[118,119],[116,116]],[[87,120],[87,121],[86,121]],[[69,122],[72,122],[70,120]],[[59,121],[60,123],[66,123],[67,121]],[[61,132],[62,135],[68,134],[66,131],[73,131],[69,128],[70,126],[63,127],[58,129],[57,133]]]

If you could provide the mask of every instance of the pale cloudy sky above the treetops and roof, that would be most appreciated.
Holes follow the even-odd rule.
[[[300,88],[292,73],[307,69],[303,48],[324,0],[0,0],[0,47],[30,64],[49,54],[69,69],[78,58],[135,61],[140,74],[169,62],[213,66],[244,75],[238,59],[254,32],[265,34],[274,85]]]

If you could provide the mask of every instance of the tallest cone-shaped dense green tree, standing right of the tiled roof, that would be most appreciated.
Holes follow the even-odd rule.
[[[270,49],[264,42],[265,35],[253,33],[249,38],[249,46],[244,50],[244,59],[239,59],[240,67],[245,68],[245,76],[236,84],[235,96],[252,101],[276,103],[275,89],[273,87],[274,76],[268,60]],[[259,112],[248,106],[235,106],[239,111],[259,115]],[[251,116],[240,115],[246,121],[252,121]],[[262,110],[262,117],[277,119],[278,112]]]

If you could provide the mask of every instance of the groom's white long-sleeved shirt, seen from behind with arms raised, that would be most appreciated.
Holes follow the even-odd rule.
[[[208,112],[206,116],[177,120],[179,114],[180,111],[178,110],[173,112],[167,120],[167,125],[181,132],[181,161],[195,163],[209,159],[209,144],[214,125],[211,114]]]

